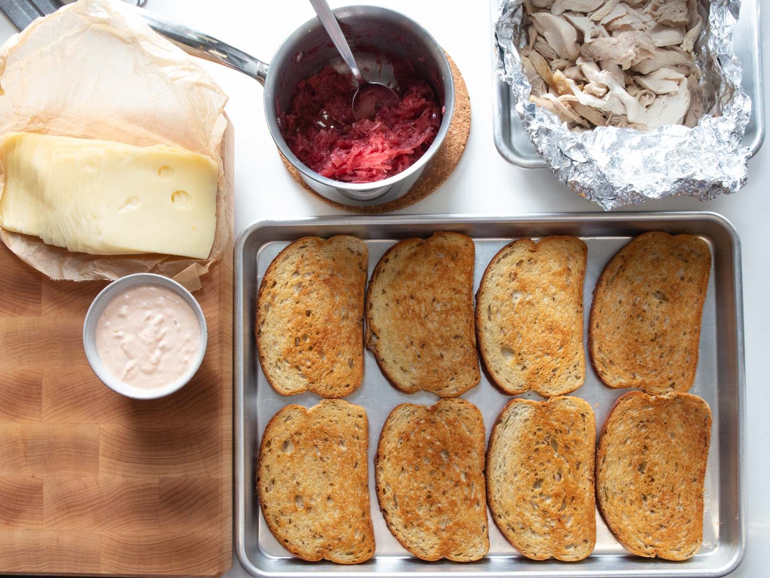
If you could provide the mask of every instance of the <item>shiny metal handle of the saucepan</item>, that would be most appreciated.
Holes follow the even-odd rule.
[[[265,84],[269,65],[216,38],[167,20],[147,10],[126,5],[127,10],[141,16],[151,29],[165,36],[189,55],[229,66]]]

